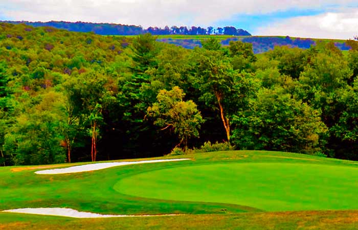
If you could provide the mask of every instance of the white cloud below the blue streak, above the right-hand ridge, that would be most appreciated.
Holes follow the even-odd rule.
[[[349,39],[358,34],[358,8],[284,19],[254,34]]]

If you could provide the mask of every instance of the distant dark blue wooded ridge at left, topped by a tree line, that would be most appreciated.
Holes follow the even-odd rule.
[[[92,22],[68,22],[68,21],[47,21],[47,22],[31,22],[31,21],[3,21],[11,24],[26,24],[33,27],[54,27],[74,32],[94,32],[100,35],[138,35],[151,33],[152,35],[207,35],[207,34],[224,34],[236,36],[251,36],[251,34],[243,29],[235,27],[195,27],[187,28],[185,26],[177,27],[149,27],[143,29],[140,26],[109,24],[109,23],[92,23]]]

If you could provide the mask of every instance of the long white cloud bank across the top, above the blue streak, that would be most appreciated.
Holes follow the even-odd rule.
[[[93,21],[130,25],[209,26],[238,14],[345,6],[356,0],[1,0],[0,14],[14,20]]]

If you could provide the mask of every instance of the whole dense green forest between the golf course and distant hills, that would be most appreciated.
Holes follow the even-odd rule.
[[[255,55],[239,40],[189,50],[150,34],[0,23],[0,164],[200,146],[358,159],[358,44],[346,44]]]

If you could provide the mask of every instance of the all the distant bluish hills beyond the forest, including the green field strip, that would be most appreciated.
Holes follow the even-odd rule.
[[[1,21],[0,21],[1,22]],[[120,35],[133,36],[139,34],[150,33],[158,36],[158,41],[179,45],[186,49],[194,49],[194,47],[202,47],[202,40],[209,37],[220,39],[222,45],[229,45],[230,41],[242,41],[251,43],[255,54],[260,54],[273,50],[275,46],[288,45],[289,47],[297,47],[300,49],[308,49],[317,42],[327,42],[329,39],[315,38],[295,38],[282,36],[251,36],[251,34],[243,29],[235,27],[223,28],[201,28],[185,26],[177,27],[149,27],[144,29],[140,26],[108,24],[108,23],[92,23],[92,22],[67,22],[67,21],[48,21],[48,22],[31,22],[31,21],[3,21],[10,24],[25,24],[33,27],[53,27],[73,32],[93,32],[99,35]],[[332,40],[337,48],[342,51],[348,51],[349,45],[344,40]]]

